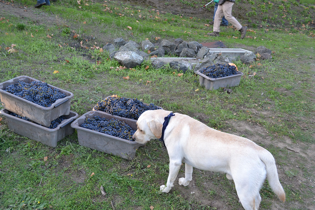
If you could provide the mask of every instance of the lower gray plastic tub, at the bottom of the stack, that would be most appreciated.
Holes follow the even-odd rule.
[[[34,122],[12,116],[10,115],[10,111],[6,109],[2,109],[0,113],[7,117],[8,127],[14,133],[51,147],[56,147],[58,141],[74,133],[74,129],[71,128],[70,123],[79,116],[77,113],[70,111],[70,114],[65,116],[66,120],[63,120],[57,128],[50,129]]]

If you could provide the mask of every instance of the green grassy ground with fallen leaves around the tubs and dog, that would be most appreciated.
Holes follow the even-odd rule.
[[[286,21],[280,28],[256,22],[257,28],[248,31],[243,40],[233,38],[239,32],[231,26],[221,28],[220,37],[207,37],[212,30],[205,26],[209,18],[164,13],[162,9],[157,13],[156,8],[141,7],[136,1],[135,5],[116,1],[81,1],[79,5],[66,0],[40,9],[33,8],[34,2],[29,0],[17,1],[22,8],[0,2],[4,17],[0,21],[0,82],[26,75],[71,91],[71,110],[79,115],[108,95],[135,97],[192,116],[212,128],[249,138],[274,155],[287,195],[287,201],[281,203],[266,182],[261,189],[260,209],[312,209],[315,45],[312,24],[303,21],[306,16],[314,16],[308,13],[314,8],[294,2],[282,2],[290,8],[286,17],[297,18],[296,23],[306,24],[304,27],[291,27]],[[163,5],[168,6],[167,3]],[[199,8],[203,3],[176,4],[177,8]],[[269,4],[242,3],[247,7]],[[175,5],[175,1],[168,4]],[[293,6],[309,9],[294,16]],[[256,11],[260,11],[258,8]],[[274,24],[280,23],[275,20]],[[263,45],[273,54],[271,60],[257,60],[251,65],[236,61],[244,76],[239,86],[232,87],[233,93],[227,94],[222,89],[210,91],[201,87],[194,73],[179,77],[180,72],[154,69],[149,61],[133,69],[117,70],[118,62],[97,48],[117,37],[137,43],[145,38],[156,43],[178,37],[200,43],[221,40],[228,48],[251,51]],[[123,79],[126,76],[129,80]],[[79,146],[77,133],[51,148],[14,134],[5,117],[0,121],[1,209],[242,208],[233,181],[224,174],[198,169],[187,187],[179,186],[176,180],[169,194],[158,193],[168,170],[167,150],[157,140],[140,147],[136,157],[127,161]],[[184,173],[182,167],[178,177]],[[106,191],[104,197],[100,186]]]

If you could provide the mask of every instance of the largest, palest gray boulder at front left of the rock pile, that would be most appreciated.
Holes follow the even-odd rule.
[[[134,51],[119,51],[114,55],[114,59],[119,62],[120,65],[126,66],[126,68],[133,68],[140,65],[143,62],[143,57]]]

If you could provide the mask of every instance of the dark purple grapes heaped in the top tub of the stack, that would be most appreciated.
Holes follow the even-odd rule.
[[[66,97],[58,89],[50,88],[46,82],[40,81],[31,83],[18,81],[6,87],[5,91],[44,107],[49,107],[56,100]]]

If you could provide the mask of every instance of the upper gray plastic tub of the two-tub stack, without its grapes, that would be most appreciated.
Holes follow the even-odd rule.
[[[31,83],[39,80],[27,76],[20,76],[0,83],[0,97],[3,108],[20,116],[25,116],[45,127],[49,127],[50,122],[58,117],[69,115],[70,101],[73,98],[73,94],[71,92],[52,85],[47,85],[50,88],[58,89],[59,92],[64,93],[66,97],[56,100],[56,102],[49,107],[44,107],[5,91],[6,87],[12,84],[14,85],[18,81]]]

